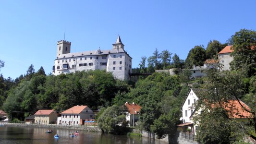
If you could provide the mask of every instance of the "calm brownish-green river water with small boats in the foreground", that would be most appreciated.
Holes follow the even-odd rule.
[[[52,129],[52,133],[46,133],[46,130],[37,127],[1,126],[0,144],[168,144],[146,137],[85,131],[80,131],[76,137],[70,137],[74,130]],[[59,139],[53,137],[56,133],[59,134]]]

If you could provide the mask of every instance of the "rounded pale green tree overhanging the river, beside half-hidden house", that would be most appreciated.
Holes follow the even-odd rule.
[[[128,122],[126,121],[127,107],[113,105],[104,110],[98,118],[99,128],[106,133],[125,134],[129,132]]]

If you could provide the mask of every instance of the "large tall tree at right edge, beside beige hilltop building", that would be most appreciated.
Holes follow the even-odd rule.
[[[234,50],[231,56],[232,70],[246,69],[248,76],[256,72],[256,31],[241,29],[232,37]]]

